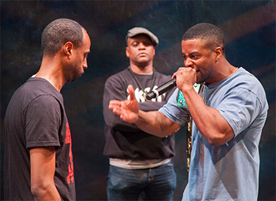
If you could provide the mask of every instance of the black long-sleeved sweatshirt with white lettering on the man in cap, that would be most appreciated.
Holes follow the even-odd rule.
[[[150,92],[152,88],[157,88],[157,86],[168,82],[171,76],[155,70],[153,86],[151,86],[152,75],[135,74],[134,76],[139,84],[129,69],[122,70],[106,80],[103,93],[106,145],[103,154],[125,160],[154,160],[173,157],[175,155],[175,135],[163,138],[150,135],[141,131],[135,124],[121,121],[119,116],[108,109],[111,99],[125,100],[128,98],[127,88],[129,84],[132,84],[135,90],[135,97],[139,101],[139,107],[142,111],[157,111],[166,104],[175,89],[148,101],[143,96],[141,88]]]

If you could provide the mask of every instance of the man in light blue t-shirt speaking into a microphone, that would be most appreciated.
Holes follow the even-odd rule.
[[[130,100],[110,101],[109,108],[159,137],[193,117],[189,182],[182,200],[257,200],[258,146],[268,110],[264,88],[254,75],[226,60],[224,35],[213,24],[188,29],[181,47],[186,67],[172,76],[178,89],[159,111],[139,111],[132,86]],[[201,84],[198,92],[195,83]]]

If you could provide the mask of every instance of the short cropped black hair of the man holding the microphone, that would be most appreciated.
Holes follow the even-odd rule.
[[[183,35],[182,40],[203,39],[206,41],[205,47],[214,50],[217,47],[222,48],[225,56],[225,39],[222,30],[212,23],[197,23],[189,28]]]

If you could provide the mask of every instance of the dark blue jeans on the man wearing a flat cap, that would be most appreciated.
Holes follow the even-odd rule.
[[[122,169],[110,165],[108,200],[173,200],[177,177],[170,162],[151,169]]]

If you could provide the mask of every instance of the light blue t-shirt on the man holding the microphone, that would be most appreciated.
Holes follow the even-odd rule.
[[[188,109],[177,106],[177,95],[175,90],[159,111],[183,125]],[[202,97],[202,88],[199,95]],[[205,97],[206,105],[219,111],[235,137],[224,145],[211,146],[193,122],[190,170],[182,200],[257,200],[258,146],[268,110],[262,84],[241,67],[229,79],[206,86]]]

